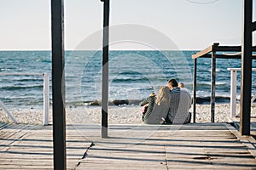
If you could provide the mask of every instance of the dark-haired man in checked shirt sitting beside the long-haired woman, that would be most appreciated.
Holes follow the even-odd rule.
[[[188,92],[177,87],[177,81],[170,79],[168,88],[171,90],[170,109],[166,118],[173,124],[184,124],[191,121],[191,96]],[[168,122],[168,121],[167,121]]]

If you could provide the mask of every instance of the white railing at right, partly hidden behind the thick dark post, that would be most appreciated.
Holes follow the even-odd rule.
[[[230,71],[230,117],[236,116],[236,85],[237,85],[237,71],[241,71],[241,68],[228,68]],[[252,71],[256,71],[256,68],[253,68]],[[256,99],[256,94],[251,99],[251,102]]]

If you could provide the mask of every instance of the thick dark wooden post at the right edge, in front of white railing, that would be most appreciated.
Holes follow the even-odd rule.
[[[252,27],[253,0],[243,1],[243,31],[241,44],[241,111],[240,133],[250,135],[252,90]]]

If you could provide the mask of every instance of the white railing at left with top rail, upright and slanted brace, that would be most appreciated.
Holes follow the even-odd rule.
[[[8,76],[8,75],[17,75],[17,76],[42,76],[44,77],[44,125],[49,124],[49,73],[0,73],[0,76]],[[11,112],[8,110],[8,108],[3,104],[3,102],[0,100],[0,106],[3,108],[3,110],[8,114],[9,118],[17,123],[15,120],[15,117],[12,116]]]

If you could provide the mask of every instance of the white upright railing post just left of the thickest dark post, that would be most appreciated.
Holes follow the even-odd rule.
[[[44,73],[44,125],[49,124],[49,73]]]

